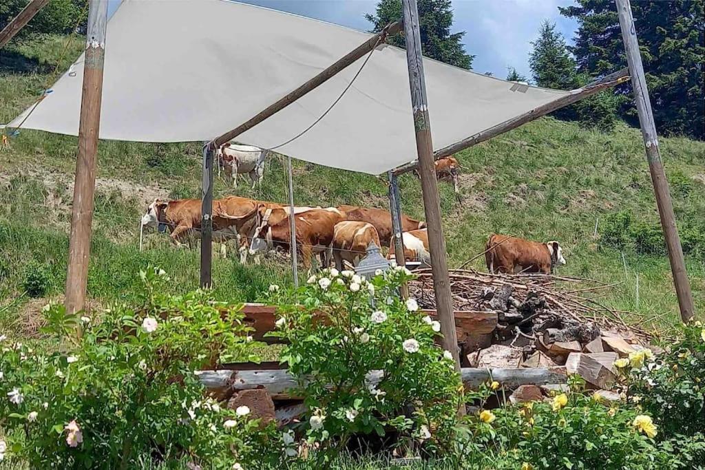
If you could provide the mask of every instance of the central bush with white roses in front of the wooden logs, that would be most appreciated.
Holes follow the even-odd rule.
[[[440,325],[403,302],[412,279],[395,268],[372,279],[326,269],[296,290],[270,289],[280,306],[274,335],[288,345],[281,361],[310,410],[304,431],[327,458],[350,435],[389,431],[407,449],[446,450],[462,400],[453,358],[436,345]]]

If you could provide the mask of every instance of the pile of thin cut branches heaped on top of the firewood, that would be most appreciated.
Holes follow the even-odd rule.
[[[436,309],[433,278],[428,269],[415,271],[410,295],[424,309]],[[549,328],[566,331],[580,342],[596,338],[601,330],[630,331],[642,339],[648,333],[627,325],[621,314],[595,299],[584,297],[613,287],[597,280],[553,274],[490,274],[469,269],[449,272],[455,311],[495,311],[498,335],[534,339]]]

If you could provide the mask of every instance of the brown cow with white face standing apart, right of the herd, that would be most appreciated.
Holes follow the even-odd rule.
[[[553,273],[565,264],[558,242],[533,242],[505,235],[491,235],[485,245],[490,273]]]

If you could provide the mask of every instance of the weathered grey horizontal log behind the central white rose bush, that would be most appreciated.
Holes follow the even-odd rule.
[[[209,390],[238,391],[265,388],[272,400],[300,400],[296,390],[299,384],[286,369],[257,371],[201,371],[200,381]],[[512,389],[519,385],[547,385],[566,383],[568,376],[565,367],[520,367],[516,369],[460,369],[462,383],[466,390],[472,390],[482,383],[498,381],[503,387]],[[381,380],[381,371],[367,375],[367,383],[375,385]],[[227,395],[227,394],[226,394]]]

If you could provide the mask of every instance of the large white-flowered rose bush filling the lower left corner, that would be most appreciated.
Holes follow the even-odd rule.
[[[44,332],[56,347],[32,351],[2,338],[0,453],[59,469],[276,460],[283,443],[274,425],[204,398],[195,374],[221,360],[257,360],[242,314],[209,292],[163,294],[157,268],[140,276],[146,295],[137,311],[115,306],[90,319],[48,305]]]

